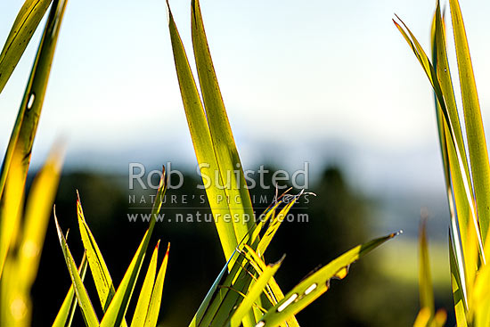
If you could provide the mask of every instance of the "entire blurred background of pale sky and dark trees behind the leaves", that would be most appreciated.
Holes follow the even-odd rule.
[[[22,3],[0,3],[0,40],[7,37]],[[170,5],[184,45],[192,51],[190,1]],[[418,310],[421,210],[429,215],[437,307],[451,310],[448,215],[432,93],[391,21],[396,12],[429,50],[434,8],[435,3],[422,0],[201,0],[244,168],[267,165],[292,172],[309,164],[309,191],[317,196],[296,209],[307,213],[309,221],[284,224],[267,257],[274,261],[287,254],[277,277],[284,289],[359,242],[404,230],[298,315],[304,325],[411,324]],[[488,126],[490,3],[461,0],[461,10]],[[447,27],[452,33],[450,23]],[[37,31],[0,96],[2,153],[39,37]],[[450,60],[455,63],[453,53]],[[71,227],[70,247],[81,255],[78,189],[89,225],[119,281],[145,226],[128,221],[128,213],[145,212],[144,203],[129,199],[151,194],[129,190],[129,164],[151,170],[171,162],[186,175],[184,186],[167,194],[199,194],[163,0],[69,2],[33,151],[34,168],[58,138],[68,143],[56,205],[63,228]],[[274,196],[274,190],[252,193],[270,200]],[[168,215],[192,213],[178,204],[163,210]],[[192,319],[224,258],[214,225],[160,223],[156,235],[172,242],[162,323],[182,326]],[[185,272],[188,258],[198,258],[192,272]],[[50,225],[33,290],[38,326],[53,322],[69,287],[68,274],[59,274],[63,265]],[[61,286],[53,290],[54,283]],[[47,289],[49,298],[41,297]],[[450,315],[450,323],[452,319]]]

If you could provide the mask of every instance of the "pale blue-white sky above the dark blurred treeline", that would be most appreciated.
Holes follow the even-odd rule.
[[[21,4],[0,3],[2,44]],[[190,1],[170,4],[190,52]],[[429,83],[391,21],[396,12],[427,48],[434,7],[427,0],[201,0],[245,165],[268,156],[287,168],[347,161],[366,183],[383,176],[442,183]],[[490,3],[461,0],[461,9],[490,128]],[[38,38],[0,95],[2,153]],[[71,164],[119,171],[130,160],[193,164],[173,65],[164,0],[69,0],[33,160],[62,135]]]

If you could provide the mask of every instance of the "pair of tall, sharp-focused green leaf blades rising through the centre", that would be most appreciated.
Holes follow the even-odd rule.
[[[208,182],[206,192],[209,204],[215,217],[225,258],[232,258],[229,263],[231,268],[234,260],[233,250],[255,225],[251,219],[254,215],[247,184],[209,53],[199,2],[192,2],[192,45],[204,106],[200,101],[200,94],[169,6],[168,17],[177,78],[192,143],[200,163],[201,174],[208,176],[203,180]],[[239,172],[238,177],[235,176],[236,171]],[[226,222],[222,219],[225,216],[232,219]],[[244,220],[244,217],[248,219]],[[274,279],[271,283],[274,284],[274,291],[279,290],[277,297],[281,297],[282,292]],[[246,318],[246,327],[252,324],[247,320],[252,322],[255,318],[252,315]],[[291,326],[298,326],[298,323],[292,319]]]

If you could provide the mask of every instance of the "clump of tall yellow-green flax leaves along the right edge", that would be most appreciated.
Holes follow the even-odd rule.
[[[450,0],[449,4],[470,166],[464,151],[454,100],[445,46],[445,26],[439,2],[437,1],[432,30],[433,67],[410,30],[406,26],[406,32],[399,25],[397,28],[421,61],[437,99],[439,138],[451,213],[449,252],[456,321],[458,326],[462,327],[485,326],[490,323],[490,315],[487,314],[490,303],[490,278],[486,276],[486,255],[490,253],[487,242],[490,218],[490,165],[460,4],[458,0]]]

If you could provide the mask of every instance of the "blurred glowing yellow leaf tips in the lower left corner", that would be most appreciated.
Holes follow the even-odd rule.
[[[2,208],[0,208],[0,302],[5,310],[0,316],[2,325],[31,324],[30,290],[37,275],[39,258],[45,241],[45,231],[53,208],[58,186],[61,155],[53,151],[39,170],[31,185],[26,214],[22,217],[24,180],[21,169],[13,168],[7,181]],[[22,217],[22,218],[21,218]],[[10,305],[8,303],[11,303]]]

